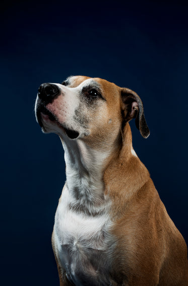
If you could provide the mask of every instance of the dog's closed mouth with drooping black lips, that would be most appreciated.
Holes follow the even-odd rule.
[[[43,120],[45,121],[55,121],[55,123],[62,129],[65,131],[65,133],[67,134],[67,136],[70,139],[76,139],[78,138],[78,136],[80,135],[78,131],[76,130],[72,130],[70,128],[67,128],[65,125],[62,125],[61,123],[59,123],[59,121],[57,120],[57,118],[44,106],[44,105],[40,105],[37,108],[36,111],[36,117],[37,117],[37,121],[38,124],[40,125],[40,127],[46,131],[44,125],[43,125]]]

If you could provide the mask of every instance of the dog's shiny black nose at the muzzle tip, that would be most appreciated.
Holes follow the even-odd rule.
[[[50,101],[59,94],[58,86],[49,83],[42,84],[38,89],[38,97],[45,101]]]

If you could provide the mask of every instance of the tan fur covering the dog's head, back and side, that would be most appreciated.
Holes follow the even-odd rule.
[[[88,77],[74,77],[77,87]],[[169,218],[150,174],[132,154],[129,123],[123,124],[126,109],[121,88],[98,78],[105,104],[93,114],[91,134],[83,138],[95,150],[110,152],[103,165],[104,194],[112,201],[110,217],[114,222],[110,235],[116,248],[111,257],[111,285],[188,286],[187,248],[184,239]],[[101,110],[103,112],[101,112]],[[92,111],[91,111],[92,116]],[[60,286],[71,285],[59,264],[58,251],[52,246],[57,262]]]

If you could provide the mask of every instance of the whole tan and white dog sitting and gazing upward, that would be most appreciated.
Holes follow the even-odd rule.
[[[59,135],[67,181],[52,247],[60,286],[187,286],[187,248],[132,146],[150,134],[136,92],[73,76],[38,89],[36,119]]]

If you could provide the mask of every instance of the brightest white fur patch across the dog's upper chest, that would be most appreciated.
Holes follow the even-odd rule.
[[[95,238],[100,236],[100,231],[109,227],[109,216],[105,206],[101,216],[88,217],[82,213],[76,213],[69,209],[69,203],[72,202],[72,196],[65,186],[55,215],[55,233],[58,237],[58,249],[61,245],[68,244],[70,237],[74,238],[74,243],[79,244],[79,241],[85,241],[85,247],[94,249],[103,249],[102,245],[98,245],[98,240]]]

